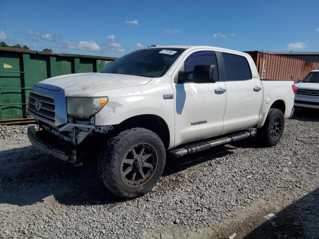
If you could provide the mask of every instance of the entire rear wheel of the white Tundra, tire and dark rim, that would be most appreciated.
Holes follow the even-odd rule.
[[[264,125],[257,129],[259,142],[265,146],[274,146],[283,135],[285,127],[284,114],[279,109],[270,109]]]

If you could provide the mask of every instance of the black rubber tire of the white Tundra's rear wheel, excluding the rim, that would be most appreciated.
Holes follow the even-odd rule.
[[[274,120],[279,117],[282,121],[281,131],[276,139],[271,135],[272,126]],[[260,144],[266,147],[275,146],[281,139],[285,127],[285,117],[281,110],[272,108],[268,112],[268,116],[264,125],[261,128],[257,128],[257,138]]]

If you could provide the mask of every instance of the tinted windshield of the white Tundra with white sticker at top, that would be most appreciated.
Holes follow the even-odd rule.
[[[134,51],[107,65],[101,73],[161,77],[184,50],[149,48]]]

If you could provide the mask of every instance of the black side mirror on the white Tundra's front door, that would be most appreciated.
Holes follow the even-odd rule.
[[[194,83],[215,83],[216,66],[215,65],[195,65],[193,71]]]

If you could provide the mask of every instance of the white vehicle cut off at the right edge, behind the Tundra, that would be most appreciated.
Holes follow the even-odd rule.
[[[309,72],[297,82],[295,107],[319,109],[319,70]]]

